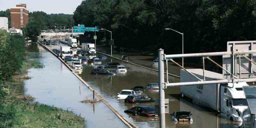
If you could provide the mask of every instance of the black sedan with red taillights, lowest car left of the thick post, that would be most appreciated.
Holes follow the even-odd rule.
[[[146,117],[158,117],[158,114],[155,113],[155,108],[146,105],[136,106],[131,109],[125,110],[124,112]]]

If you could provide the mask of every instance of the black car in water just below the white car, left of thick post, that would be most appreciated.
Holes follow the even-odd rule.
[[[155,100],[147,95],[130,95],[124,99],[125,103],[145,103],[154,102]]]

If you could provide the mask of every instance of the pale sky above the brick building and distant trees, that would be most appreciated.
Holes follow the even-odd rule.
[[[73,14],[81,2],[82,0],[0,0],[0,11],[16,7],[19,3],[25,3],[29,12]]]

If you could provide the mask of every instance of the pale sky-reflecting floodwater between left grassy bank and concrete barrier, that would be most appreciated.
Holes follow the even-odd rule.
[[[127,127],[103,102],[81,103],[82,100],[92,99],[92,92],[52,53],[37,43],[31,44],[28,50],[38,53],[35,58],[44,67],[28,70],[32,79],[25,80],[25,95],[35,97],[39,103],[81,114],[88,128]]]

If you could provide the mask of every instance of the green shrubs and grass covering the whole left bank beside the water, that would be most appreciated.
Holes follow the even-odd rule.
[[[22,94],[22,73],[32,67],[43,68],[40,61],[31,59],[35,54],[26,51],[22,36],[0,30],[0,128],[86,127],[84,118],[73,112],[34,103],[33,97]]]

